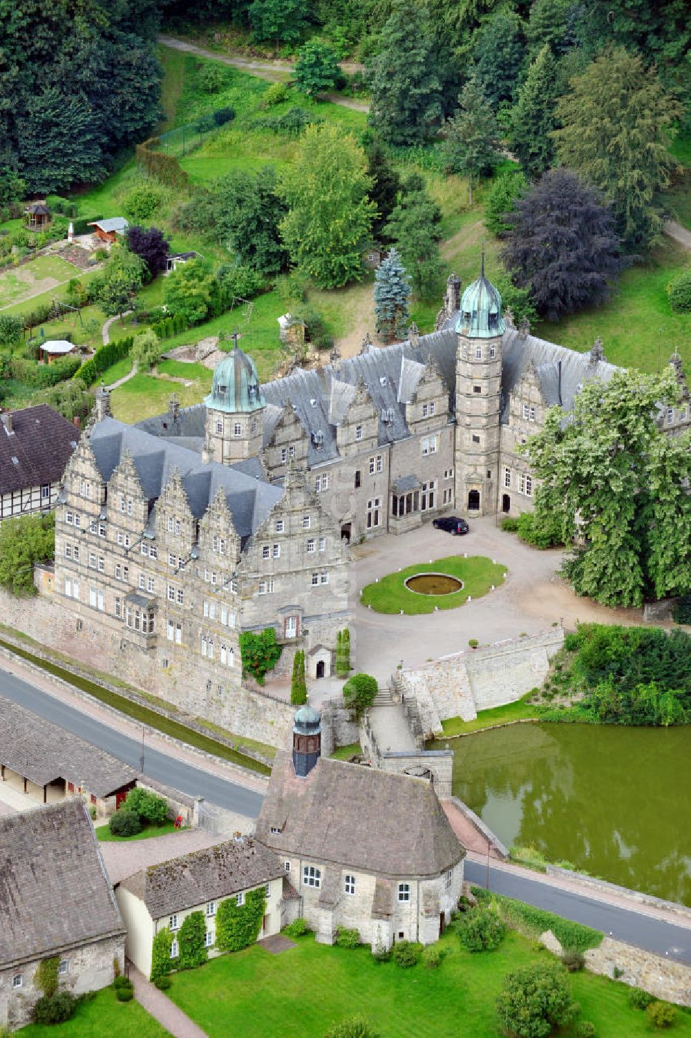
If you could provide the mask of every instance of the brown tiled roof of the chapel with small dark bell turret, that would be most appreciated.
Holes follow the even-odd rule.
[[[278,854],[383,877],[437,876],[466,854],[426,780],[323,757],[298,778],[286,750],[256,835]]]

